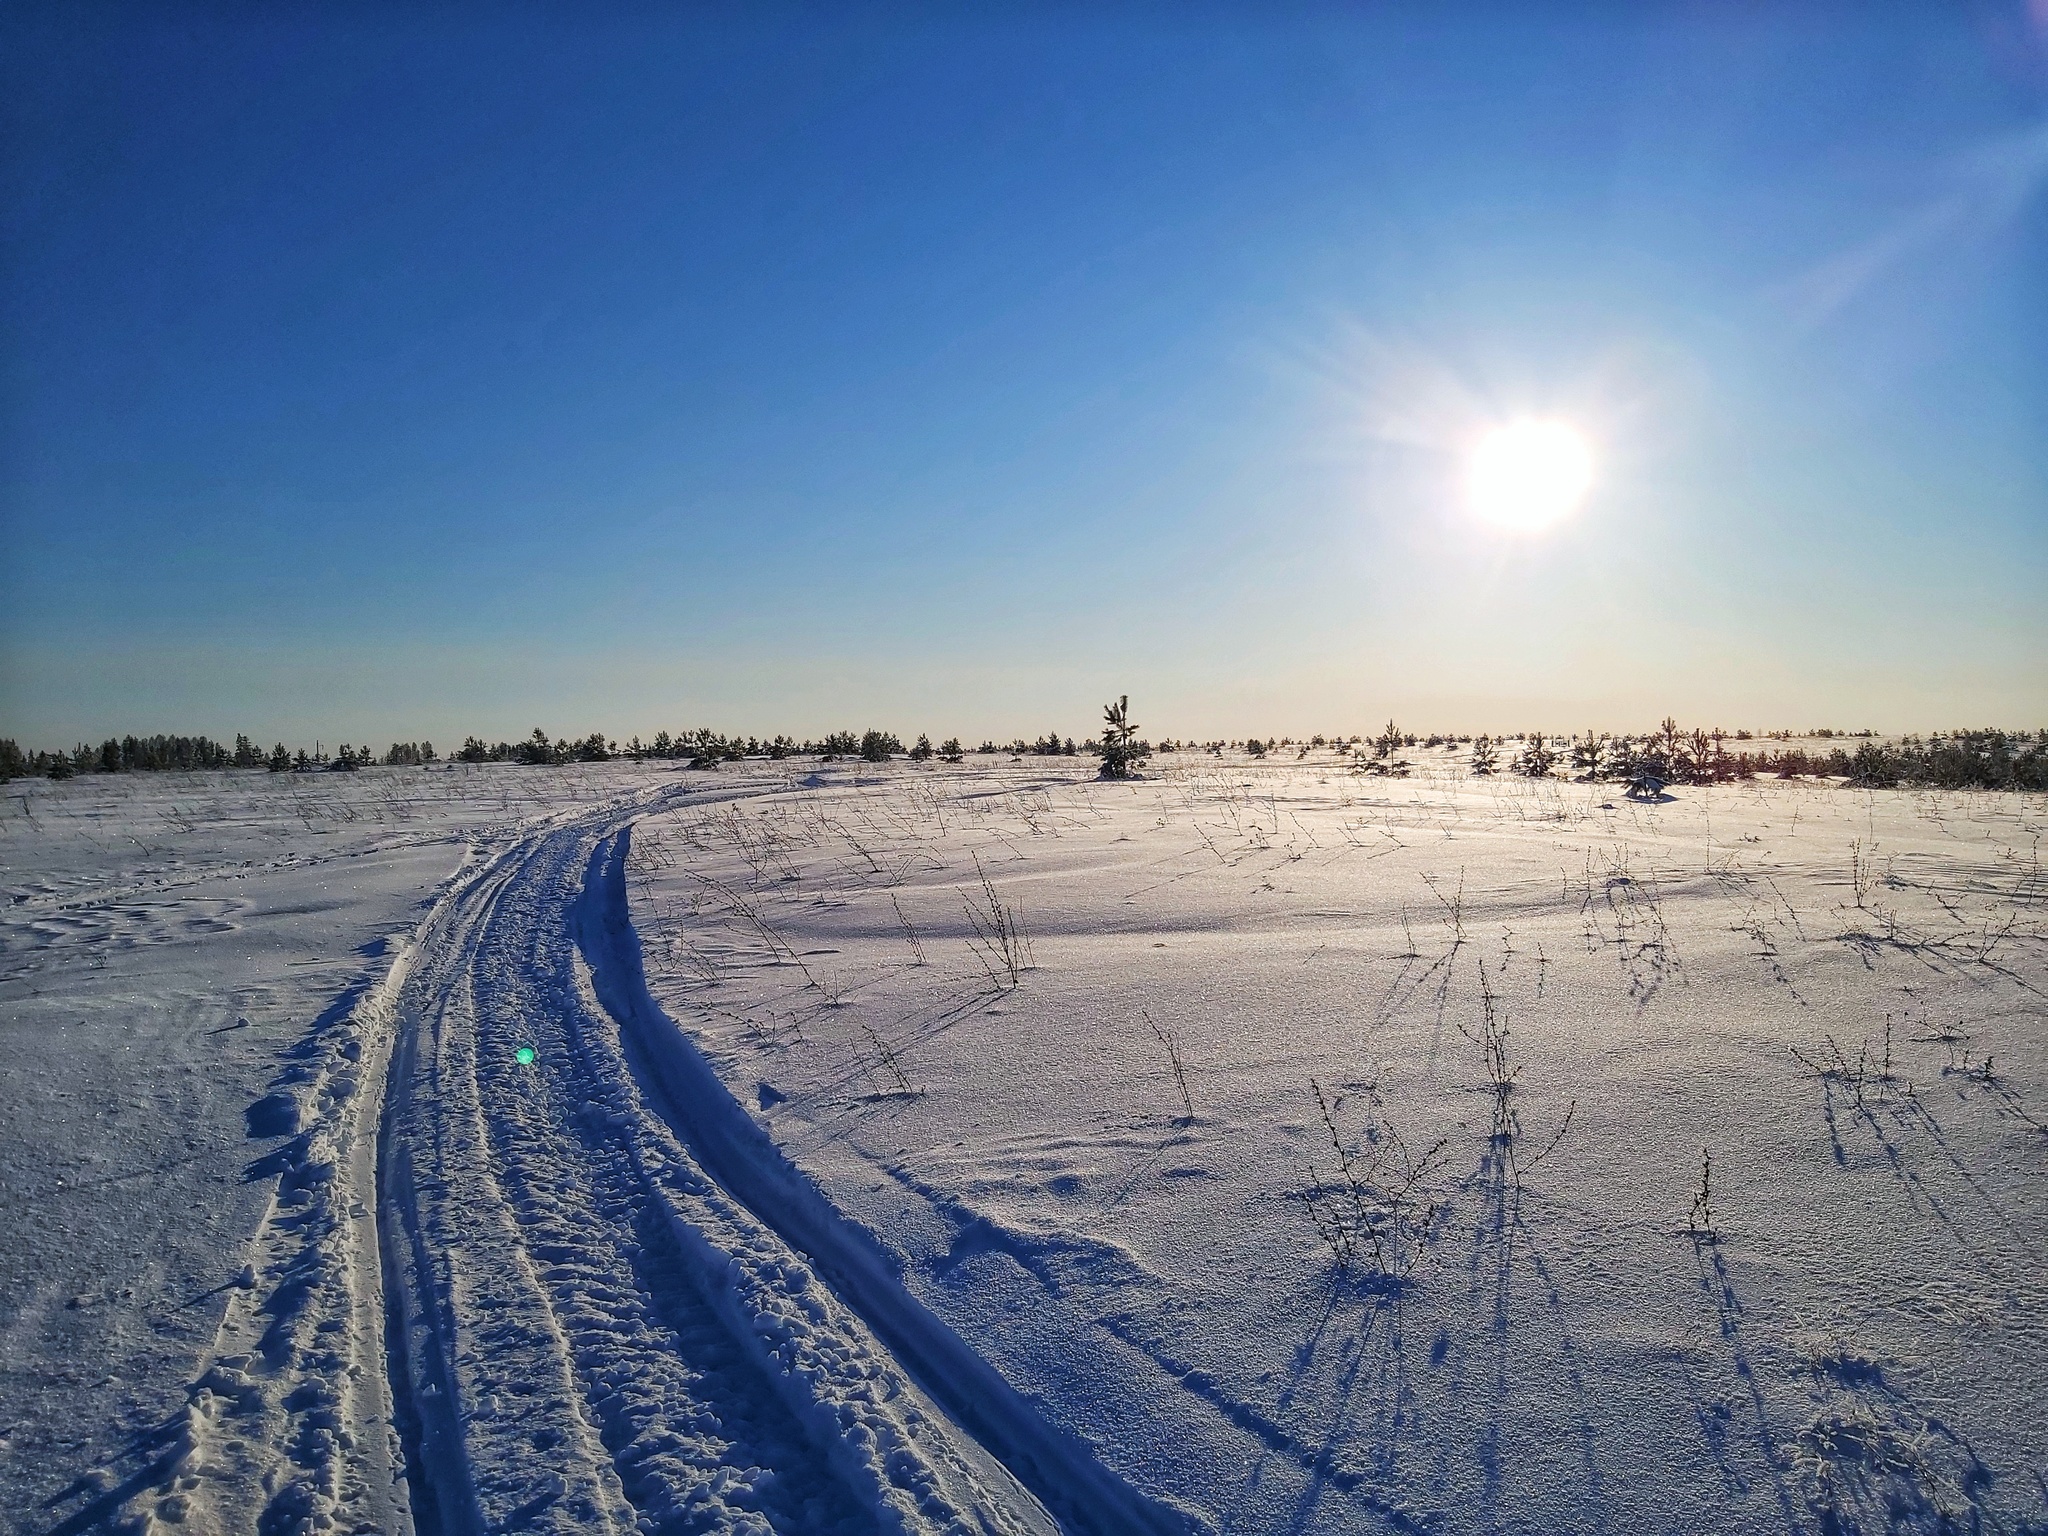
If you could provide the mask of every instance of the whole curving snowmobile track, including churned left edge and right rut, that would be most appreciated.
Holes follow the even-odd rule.
[[[735,793],[528,823],[328,1010],[131,1528],[1190,1528],[932,1319],[647,995],[631,821]]]

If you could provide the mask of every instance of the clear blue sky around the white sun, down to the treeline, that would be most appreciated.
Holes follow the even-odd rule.
[[[0,94],[0,735],[2048,723],[2048,0],[27,4]]]

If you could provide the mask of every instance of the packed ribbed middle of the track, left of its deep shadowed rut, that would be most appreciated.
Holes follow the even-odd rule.
[[[573,932],[623,819],[473,883],[406,989],[381,1171],[420,1530],[1051,1530],[643,1106]]]

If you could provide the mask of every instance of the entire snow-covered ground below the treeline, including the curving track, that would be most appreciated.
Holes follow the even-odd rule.
[[[2048,805],[1411,756],[10,786],[0,1507],[2048,1526]]]

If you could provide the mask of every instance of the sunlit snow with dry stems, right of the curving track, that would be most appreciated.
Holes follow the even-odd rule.
[[[1057,768],[649,817],[633,913],[733,1100],[1106,1468],[1217,1530],[2042,1518],[2040,801]],[[1348,1147],[1446,1139],[1403,1284],[1298,1198],[1311,1083]]]

